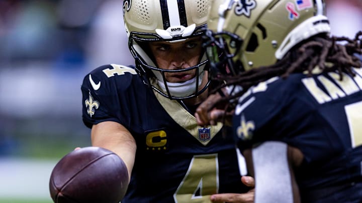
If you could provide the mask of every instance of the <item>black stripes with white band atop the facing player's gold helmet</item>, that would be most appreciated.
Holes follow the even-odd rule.
[[[177,5],[167,5],[168,4],[176,4],[177,1]],[[162,20],[163,20],[163,30],[167,30],[167,28],[169,28],[170,26],[178,26],[178,25],[182,25],[187,27],[187,18],[186,18],[186,8],[185,8],[185,0],[160,0],[160,6],[161,6],[161,15],[162,15]],[[177,25],[171,25],[171,20],[169,18],[169,13],[171,13],[172,15],[174,15],[174,12],[176,11],[169,11],[169,9],[175,8],[174,6],[177,6],[178,9],[178,15],[179,15],[179,19],[177,20]]]

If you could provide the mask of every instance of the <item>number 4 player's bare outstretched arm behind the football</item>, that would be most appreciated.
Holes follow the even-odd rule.
[[[91,135],[93,146],[109,149],[122,158],[131,177],[137,148],[131,133],[117,122],[105,121],[93,125]]]

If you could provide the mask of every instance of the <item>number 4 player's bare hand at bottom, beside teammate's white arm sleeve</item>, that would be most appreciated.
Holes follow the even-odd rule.
[[[251,176],[242,176],[241,181],[249,187],[252,187],[246,193],[222,193],[222,194],[213,194],[210,199],[213,202],[234,202],[234,203],[252,203],[254,202],[254,191],[255,191],[255,182],[254,178]]]

